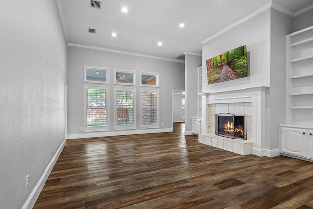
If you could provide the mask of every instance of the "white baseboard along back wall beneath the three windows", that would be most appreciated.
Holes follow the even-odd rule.
[[[88,132],[88,133],[83,133],[83,134],[69,134],[67,136],[67,139],[110,137],[110,136],[132,135],[132,134],[151,134],[151,133],[162,133],[162,132],[173,132],[173,128],[142,129],[142,130],[127,130],[127,131],[112,131],[112,132]]]

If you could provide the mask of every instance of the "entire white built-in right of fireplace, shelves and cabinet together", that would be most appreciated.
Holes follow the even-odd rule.
[[[313,26],[287,35],[286,104],[281,153],[313,160]]]

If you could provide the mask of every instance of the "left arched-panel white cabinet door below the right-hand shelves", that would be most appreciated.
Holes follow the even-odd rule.
[[[307,130],[282,127],[281,152],[307,157]]]

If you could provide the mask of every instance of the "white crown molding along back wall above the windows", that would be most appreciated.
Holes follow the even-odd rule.
[[[166,60],[166,61],[171,61],[171,62],[185,63],[184,60],[171,59],[171,58],[166,58],[166,57],[158,57],[158,56],[152,56],[152,55],[147,55],[147,54],[139,54],[139,53],[134,53],[134,52],[129,52],[129,51],[120,51],[120,50],[102,48],[102,47],[97,47],[97,46],[89,46],[89,45],[82,45],[82,44],[75,44],[75,43],[68,43],[67,46],[75,46],[75,47],[80,47],[80,48],[88,48],[88,49],[107,51],[107,52],[118,53],[118,54],[127,54],[127,55],[138,56],[138,57],[146,57],[146,58]]]

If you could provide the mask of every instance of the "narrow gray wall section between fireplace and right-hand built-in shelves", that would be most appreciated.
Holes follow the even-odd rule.
[[[270,12],[270,89],[266,92],[266,148],[279,148],[278,125],[286,123],[286,35],[292,32],[292,17]]]

